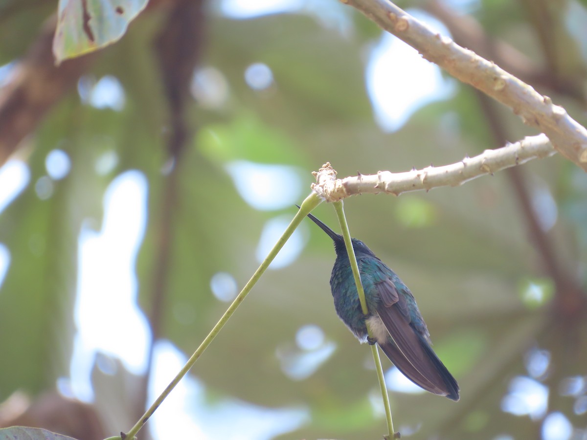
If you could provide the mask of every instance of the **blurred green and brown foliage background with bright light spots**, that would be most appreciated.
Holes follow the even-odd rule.
[[[585,125],[585,2],[399,6],[438,19],[457,43]],[[115,301],[126,292],[149,322],[139,357],[154,353],[154,365],[162,365],[152,342],[191,354],[326,161],[339,177],[399,172],[535,134],[510,110],[448,78],[447,97],[385,129],[367,91],[369,59],[382,39],[374,23],[325,0],[261,15],[238,17],[238,10],[229,0],[151,0],[120,42],[55,67],[55,2],[0,2],[0,151],[5,169],[21,161],[26,176],[0,214],[2,424],[113,435],[129,429],[170,380],[156,381],[141,361],[129,367],[108,350],[82,351],[72,361],[83,324],[74,312],[87,283],[106,286],[93,293],[108,311],[96,306],[94,333],[124,339],[137,329],[126,326],[137,321]],[[406,66],[398,57],[395,68]],[[390,81],[386,96],[406,87]],[[116,246],[86,262],[95,274],[89,282],[80,269],[82,235],[106,225],[104,196],[120,178],[146,188],[144,234],[140,225],[127,231],[140,246],[129,257],[134,284],[127,288],[109,265]],[[4,178],[0,189],[9,191],[14,179]],[[138,203],[140,192],[130,194],[122,205]],[[352,235],[410,286],[461,387],[457,404],[392,391],[403,437],[587,438],[586,194],[583,171],[557,155],[457,188],[346,201]],[[315,214],[336,229],[328,205]],[[140,438],[166,438],[161,432],[172,426],[182,427],[183,438],[385,432],[370,350],[332,306],[332,243],[302,226],[289,256],[262,277],[195,365],[198,405],[187,391],[183,409],[165,412],[165,402],[166,416]],[[76,385],[80,359],[92,372],[89,394]],[[388,386],[395,382],[390,373]],[[53,425],[39,416],[46,412]],[[186,418],[191,425],[182,424]]]

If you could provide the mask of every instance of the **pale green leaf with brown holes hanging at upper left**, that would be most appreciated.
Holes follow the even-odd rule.
[[[59,0],[53,38],[57,63],[110,45],[124,35],[148,0]]]

